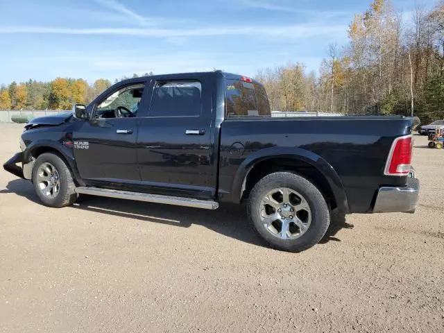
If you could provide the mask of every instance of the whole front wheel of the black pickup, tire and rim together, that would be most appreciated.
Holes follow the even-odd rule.
[[[49,207],[71,205],[78,197],[71,171],[65,161],[53,153],[44,153],[35,160],[33,185],[42,203]]]

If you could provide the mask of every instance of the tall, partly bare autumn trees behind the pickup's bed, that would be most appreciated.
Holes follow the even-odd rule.
[[[300,63],[260,70],[271,109],[444,119],[444,0],[408,16],[375,0],[355,15],[345,47],[330,44],[318,72]]]

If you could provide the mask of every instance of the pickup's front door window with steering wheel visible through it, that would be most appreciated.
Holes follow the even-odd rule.
[[[137,117],[143,93],[144,84],[123,87],[97,105],[95,117],[98,119]]]

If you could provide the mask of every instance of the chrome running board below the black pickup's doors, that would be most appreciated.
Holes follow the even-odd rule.
[[[203,208],[204,210],[216,210],[219,207],[219,203],[210,200],[161,196],[159,194],[119,191],[117,189],[99,189],[98,187],[76,187],[76,192],[78,194],[89,194],[90,196],[106,196],[108,198],[146,201],[147,203],[164,203],[167,205]]]

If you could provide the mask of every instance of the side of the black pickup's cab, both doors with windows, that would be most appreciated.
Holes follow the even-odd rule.
[[[155,76],[126,80],[101,94],[72,132],[85,184],[214,197],[216,84],[208,74]]]

